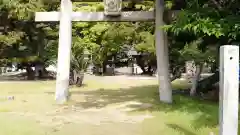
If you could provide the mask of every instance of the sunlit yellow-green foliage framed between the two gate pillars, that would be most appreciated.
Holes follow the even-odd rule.
[[[124,3],[128,6],[129,3]],[[84,5],[84,6],[83,6]],[[149,5],[149,4],[148,4]],[[149,10],[150,6],[138,4],[136,8]],[[76,2],[75,11],[102,11],[102,3]],[[145,25],[144,25],[145,24]],[[149,23],[107,23],[107,22],[78,22],[73,25],[74,36],[81,38],[81,45],[92,54],[92,61],[95,65],[102,66],[108,57],[123,53],[127,48],[135,46],[139,52],[154,51],[153,34],[145,26]],[[148,25],[146,25],[148,24]],[[152,23],[150,23],[152,24]],[[152,30],[152,29],[150,29]],[[149,46],[152,46],[148,50]]]

